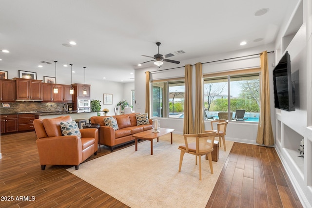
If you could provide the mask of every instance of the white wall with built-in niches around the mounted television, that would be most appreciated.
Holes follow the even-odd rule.
[[[303,21],[296,25],[293,17]],[[295,111],[275,109],[275,149],[289,175],[303,207],[312,207],[312,3],[299,0],[289,19],[285,19],[275,42],[275,59],[288,51],[291,57],[292,81],[295,82]],[[289,44],[281,44],[286,31],[297,26],[299,30]],[[289,38],[287,37],[289,40]],[[287,42],[287,40],[286,40]],[[300,141],[304,139],[304,158],[298,157]]]

